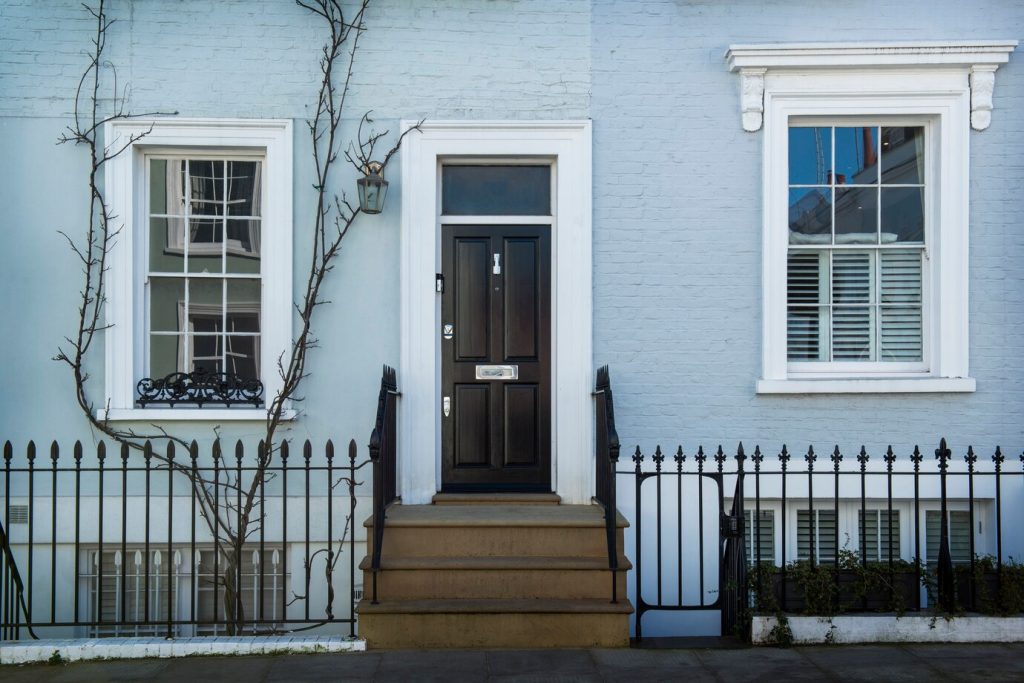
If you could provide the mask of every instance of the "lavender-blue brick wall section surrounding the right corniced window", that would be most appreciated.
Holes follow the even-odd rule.
[[[777,453],[990,454],[1024,440],[1021,55],[998,71],[992,126],[971,133],[974,394],[759,396],[763,133],[744,133],[733,43],[1016,38],[1013,3],[595,2],[595,355],[624,443],[682,439]],[[600,29],[598,29],[600,27]],[[987,458],[987,456],[986,456]],[[905,459],[905,458],[904,458]]]

